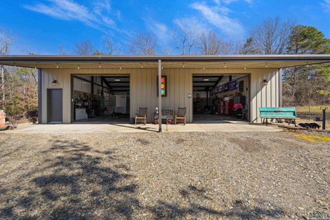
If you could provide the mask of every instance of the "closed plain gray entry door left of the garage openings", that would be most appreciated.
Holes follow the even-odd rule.
[[[47,121],[48,123],[63,122],[62,89],[47,89]]]

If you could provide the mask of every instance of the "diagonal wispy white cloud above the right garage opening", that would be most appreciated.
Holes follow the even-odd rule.
[[[234,0],[223,0],[230,3]],[[193,9],[198,10],[203,19],[208,23],[230,36],[239,36],[243,34],[244,28],[236,19],[230,18],[230,9],[227,5],[223,5],[222,1],[216,1],[216,5],[210,6],[206,3],[193,3],[190,5]]]

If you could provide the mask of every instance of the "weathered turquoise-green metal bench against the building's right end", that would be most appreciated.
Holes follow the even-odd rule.
[[[296,108],[295,107],[260,107],[259,108],[260,118],[263,120],[268,126],[268,119],[284,119],[289,120],[289,124],[291,124],[291,120],[294,120],[294,126],[296,126]]]

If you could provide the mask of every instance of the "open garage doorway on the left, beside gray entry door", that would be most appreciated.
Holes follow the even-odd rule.
[[[73,76],[75,123],[129,122],[129,75]]]

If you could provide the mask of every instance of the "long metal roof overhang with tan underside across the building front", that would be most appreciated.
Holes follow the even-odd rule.
[[[234,55],[234,56],[48,56],[16,55],[0,56],[0,65],[30,67],[39,69],[58,68],[157,68],[162,60],[164,68],[284,68],[300,65],[330,63],[330,55]]]

